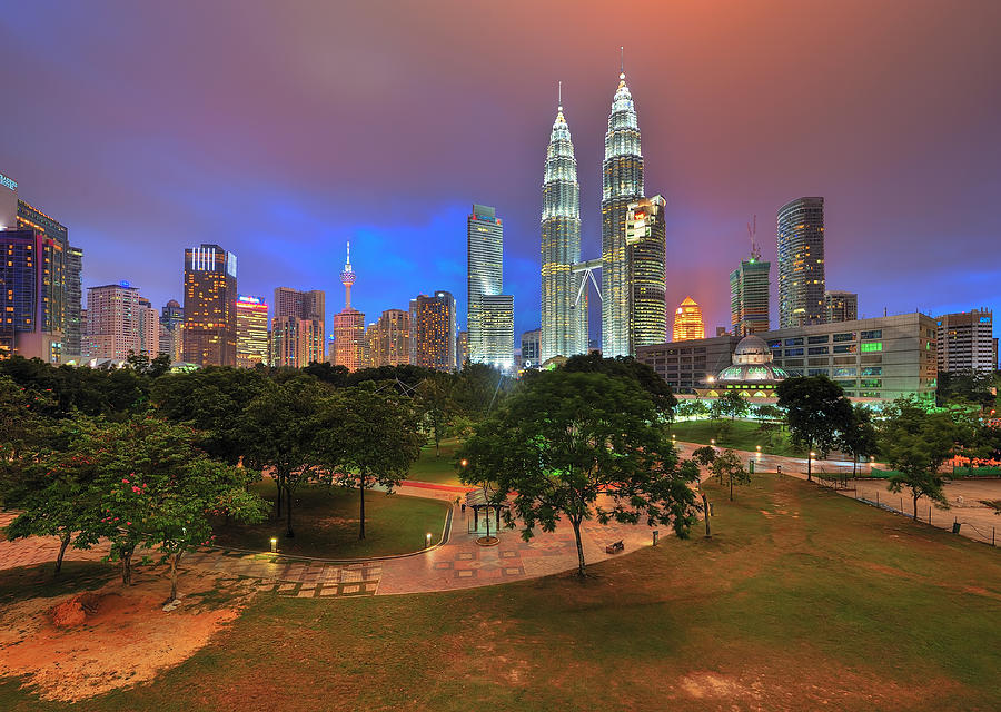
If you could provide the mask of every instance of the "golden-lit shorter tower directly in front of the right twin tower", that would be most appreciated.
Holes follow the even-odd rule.
[[[630,354],[667,338],[667,228],[662,196],[641,198],[626,208],[626,265],[630,296]]]

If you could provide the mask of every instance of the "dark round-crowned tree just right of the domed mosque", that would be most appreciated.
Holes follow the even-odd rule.
[[[787,378],[776,393],[793,444],[807,451],[806,478],[813,479],[813,452],[826,457],[838,445],[839,433],[852,424],[852,404],[842,387],[826,376]]]

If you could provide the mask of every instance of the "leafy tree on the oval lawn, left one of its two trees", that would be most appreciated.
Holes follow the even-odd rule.
[[[267,382],[242,412],[245,459],[255,467],[274,471],[276,514],[281,516],[284,495],[288,537],[295,536],[293,496],[300,484],[316,476],[320,465],[318,414],[328,394],[329,389],[315,378],[297,375],[284,383]]]

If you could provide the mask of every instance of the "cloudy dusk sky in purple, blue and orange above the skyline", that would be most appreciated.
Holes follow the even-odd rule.
[[[593,7],[582,9],[588,18],[594,11]],[[349,12],[364,14],[359,9]],[[457,8],[455,12],[455,22],[468,21],[468,10]],[[771,28],[754,24],[756,34],[740,39],[739,26],[749,20],[746,12],[750,10],[734,8],[731,13],[723,13],[723,24],[714,30],[724,37],[733,33],[734,56],[740,56],[742,49],[769,44],[789,29],[785,20]],[[781,36],[790,44],[775,49],[774,56],[746,62],[718,60],[722,65],[703,70],[706,76],[687,78],[681,68],[698,65],[702,50],[695,38],[704,39],[706,30],[700,28],[711,24],[697,10],[675,18],[673,31],[682,38],[676,48],[664,50],[656,46],[654,52],[647,47],[652,28],[640,28],[630,34],[626,69],[630,87],[642,103],[650,172],[646,182],[662,192],[668,205],[667,304],[677,304],[692,294],[704,306],[708,330],[727,325],[726,270],[718,263],[723,260],[729,267],[743,256],[743,224],[747,216],[774,215],[781,205],[797,196],[819,195],[826,199],[827,285],[859,293],[860,316],[882,314],[884,307],[890,313],[918,308],[926,314],[978,305],[1001,309],[997,289],[992,288],[998,283],[995,260],[964,260],[965,255],[989,250],[1001,231],[998,216],[972,209],[989,200],[991,186],[998,181],[998,161],[990,148],[999,145],[994,138],[998,128],[988,119],[997,116],[1001,98],[993,88],[984,93],[972,79],[978,76],[978,68],[992,65],[990,52],[998,51],[977,39],[991,23],[983,18],[975,21],[975,17],[970,17],[975,12],[955,18],[933,6],[925,12],[895,18],[904,36],[930,42],[929,55],[934,56],[934,71],[923,67],[930,59],[913,55],[906,55],[913,69],[904,71],[905,66],[900,63],[904,60],[893,51],[898,40],[866,29],[879,24],[889,9],[846,4],[825,12],[825,22],[832,28],[849,22],[861,28],[861,38],[856,36],[854,41],[866,48],[864,57],[853,57],[858,55],[854,46],[833,32],[826,46],[831,59],[836,58],[843,66],[841,73],[854,82],[833,77],[825,63],[809,53],[797,59],[797,65],[787,62],[802,41],[787,34]],[[515,296],[515,332],[535,328],[539,325],[538,157],[545,150],[542,127],[552,126],[552,95],[557,79],[564,81],[564,101],[573,106],[582,191],[582,251],[588,256],[597,254],[601,125],[607,120],[607,91],[617,69],[618,38],[624,37],[621,27],[597,23],[578,40],[558,39],[545,50],[529,42],[525,57],[512,59],[511,71],[485,69],[483,60],[474,61],[472,69],[450,78],[449,83],[457,82],[465,89],[473,73],[482,70],[476,86],[489,87],[492,98],[488,106],[469,109],[473,115],[466,121],[442,119],[447,112],[437,105],[458,92],[424,81],[434,63],[434,58],[420,53],[426,50],[412,46],[395,50],[383,40],[371,49],[359,49],[359,66],[373,52],[385,58],[381,73],[375,79],[365,71],[357,77],[345,76],[354,72],[325,72],[318,77],[310,73],[309,67],[293,61],[291,77],[298,83],[291,82],[293,89],[287,91],[298,91],[295,88],[303,86],[304,77],[330,85],[323,93],[333,98],[316,107],[325,123],[339,116],[341,106],[347,106],[337,98],[350,96],[359,87],[366,100],[380,115],[394,117],[394,122],[402,113],[399,102],[409,102],[406,106],[415,116],[390,141],[398,168],[393,172],[398,176],[384,187],[410,195],[405,199],[406,209],[395,212],[390,221],[361,195],[366,185],[376,182],[369,168],[351,178],[356,185],[347,186],[335,177],[339,160],[330,151],[305,156],[300,141],[318,140],[329,134],[329,127],[321,131],[318,123],[295,125],[296,132],[304,137],[298,139],[281,131],[275,134],[285,122],[305,121],[290,118],[286,111],[280,117],[268,115],[247,120],[249,115],[244,108],[250,90],[242,82],[236,82],[225,97],[214,99],[218,117],[199,115],[201,102],[196,99],[211,86],[206,82],[239,77],[244,67],[215,50],[199,49],[208,53],[205,60],[215,60],[215,80],[196,78],[190,87],[167,81],[168,72],[177,67],[167,61],[167,39],[157,28],[169,28],[176,20],[159,13],[145,9],[109,14],[106,31],[127,40],[120,50],[110,49],[113,42],[89,44],[82,39],[83,33],[75,37],[88,21],[82,10],[68,8],[53,18],[42,9],[18,8],[3,20],[6,27],[17,24],[26,32],[10,33],[11,42],[2,50],[9,60],[6,65],[19,68],[11,76],[19,103],[9,112],[12,138],[0,148],[0,170],[21,184],[23,199],[69,228],[70,241],[85,250],[85,287],[128,279],[140,285],[143,294],[160,307],[168,299],[182,298],[179,270],[174,267],[180,261],[181,248],[219,243],[240,257],[240,291],[269,294],[281,284],[330,290],[337,288],[336,268],[343,259],[343,243],[350,239],[357,261],[366,266],[373,280],[357,296],[359,310],[380,314],[387,308],[402,308],[413,295],[437,288],[450,289],[463,304],[464,217],[468,202],[484,201],[496,205],[505,216],[505,291]],[[211,28],[225,13],[215,16],[208,10],[207,14],[206,27]],[[247,23],[245,29],[254,36],[255,22],[269,17],[264,10],[248,12],[240,22]],[[310,19],[329,29],[325,18],[329,16],[320,13]],[[488,29],[488,36],[494,38],[493,33],[502,30],[526,31],[506,24],[509,21],[502,19],[503,27]],[[44,56],[40,48],[27,42],[32,28],[39,30],[42,22],[46,32],[57,40],[56,51]],[[279,46],[287,46],[291,38],[310,47],[318,42],[305,18],[289,22],[290,26],[279,28]],[[933,31],[936,26],[949,28],[948,40],[943,39],[944,32],[940,36]],[[692,31],[691,37],[683,37],[686,30]],[[388,32],[396,37],[392,28]],[[476,59],[473,48],[464,41],[444,39],[446,47],[459,57]],[[357,41],[348,41],[347,37],[345,40],[346,47],[357,49]],[[138,51],[139,47],[145,49]],[[53,120],[41,110],[44,95],[33,88],[48,86],[46,80],[54,82],[50,91],[65,93],[68,107],[79,106],[88,92],[105,97],[108,109],[118,107],[125,95],[117,93],[119,88],[103,85],[100,76],[109,73],[108,63],[118,57],[116,52],[126,49],[136,50],[137,66],[119,62],[121,66],[111,76],[121,75],[122,86],[136,93],[127,117],[101,111],[97,117],[78,117],[67,122],[65,116]],[[489,42],[484,52],[492,61],[502,53],[508,56]],[[328,55],[320,51],[319,56]],[[414,57],[413,67],[403,66],[402,57]],[[70,62],[75,67],[72,82],[56,76]],[[882,83],[862,71],[863,66],[875,67],[878,76],[896,77],[893,90],[886,93]],[[277,81],[267,66],[251,61],[246,69],[261,72],[267,86]],[[815,108],[822,102],[824,111],[807,111],[809,107],[781,116],[765,111],[779,91],[770,82],[780,73],[784,78],[812,78],[817,98],[806,103]],[[136,83],[140,76],[150,78],[149,87]],[[161,85],[171,98],[170,110],[162,110],[153,96],[153,88]],[[387,90],[404,90],[410,85],[419,86],[419,101],[408,91]],[[943,97],[941,103],[949,107],[948,111],[913,111],[914,102],[930,90],[929,85]],[[288,100],[286,106],[298,106],[310,101],[313,93],[303,89],[301,93],[283,96]],[[458,148],[455,152],[449,148],[443,155],[440,168],[430,166],[424,159],[426,149],[418,146],[418,136],[432,127],[427,117],[432,107],[425,103],[436,105],[435,130],[456,136],[453,144]],[[492,113],[497,113],[494,109],[502,106],[512,110],[493,118]],[[191,110],[192,116],[181,116],[179,107]],[[909,107],[911,110],[906,110]],[[159,113],[153,109],[159,109]],[[905,121],[902,116],[906,116]],[[218,127],[219,117],[237,127],[232,138],[222,140],[218,131],[211,131]],[[202,120],[204,126],[196,119]],[[142,130],[129,129],[132,123],[141,125]],[[490,145],[467,140],[472,136],[467,131],[479,134],[487,127],[494,136]],[[380,134],[384,128],[381,119],[374,126]],[[113,138],[109,129],[115,131]],[[254,147],[251,139],[264,129],[277,136],[274,148]],[[217,146],[206,150],[206,141]],[[403,141],[414,149],[413,155],[400,150]],[[811,161],[800,160],[803,141],[811,142]],[[427,142],[442,146],[437,140]],[[484,161],[495,162],[496,171],[457,162],[468,152],[466,147],[473,145]],[[341,141],[337,146],[345,148]],[[707,152],[713,146],[723,150]],[[99,152],[93,154],[95,150]],[[196,152],[211,156],[212,165],[189,161],[189,154]],[[425,178],[433,179],[416,180],[418,166],[422,171],[434,170],[432,176],[425,174]],[[450,177],[445,170],[450,171]],[[439,180],[442,177],[445,179]],[[257,196],[265,186],[269,197],[259,201]],[[922,209],[914,210],[913,205]],[[776,261],[773,226],[769,222],[763,224],[767,227],[759,237],[762,258]],[[681,246],[694,244],[704,245],[704,249],[697,254],[681,251]],[[145,258],[132,264],[122,260],[122,250],[135,250],[137,245],[141,245]],[[869,254],[869,259],[852,259],[855,251],[873,245],[876,250]],[[914,249],[914,245],[919,248]],[[309,248],[316,248],[316,259],[301,258]],[[684,268],[678,268],[680,261]],[[773,324],[779,323],[775,281]],[[919,293],[915,284],[926,288]],[[596,310],[591,310],[592,337],[598,334]],[[326,316],[329,319],[333,315]]]

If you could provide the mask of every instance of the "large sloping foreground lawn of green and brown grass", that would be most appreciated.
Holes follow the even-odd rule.
[[[75,708],[995,710],[998,550],[765,475],[714,537],[453,593],[264,595],[151,684]]]

